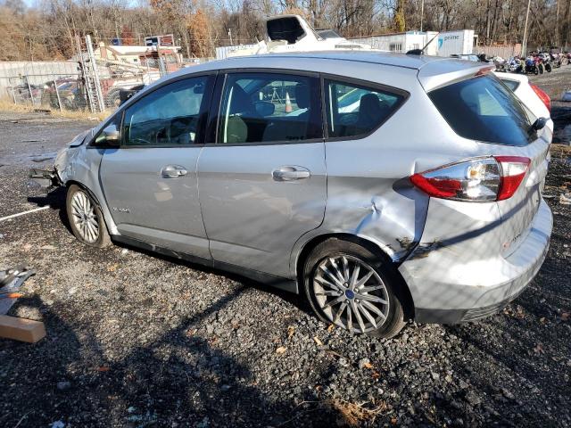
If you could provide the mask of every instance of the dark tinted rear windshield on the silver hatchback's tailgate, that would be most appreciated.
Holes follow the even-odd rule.
[[[526,145],[533,141],[530,119],[517,97],[492,75],[469,78],[428,96],[451,128],[486,143]]]

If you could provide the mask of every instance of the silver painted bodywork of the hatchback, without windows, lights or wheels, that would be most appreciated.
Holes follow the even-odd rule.
[[[380,128],[359,139],[206,144],[154,154],[154,149],[103,154],[81,144],[58,157],[56,169],[64,183],[72,180],[91,190],[112,235],[128,234],[204,259],[212,256],[213,263],[268,273],[291,284],[298,275],[299,256],[313,239],[359,236],[395,262],[419,319],[455,322],[470,309],[487,310],[515,297],[541,266],[551,228],[550,210],[540,193],[550,130],[544,129],[534,143],[523,147],[468,140],[451,129],[426,95],[482,68],[475,62],[350,51],[209,62],[155,82],[120,111],[172,78],[208,70],[358,75],[363,81],[404,89],[409,96]],[[171,158],[170,152],[176,154]],[[507,201],[429,198],[408,180],[417,172],[491,155],[532,160],[525,182]],[[188,176],[176,182],[161,178],[161,164],[175,159],[188,168]],[[276,182],[271,171],[280,166],[309,169],[310,177]],[[130,214],[111,214],[110,207],[121,208],[126,202],[132,205]],[[145,218],[137,218],[134,210],[145,210]]]

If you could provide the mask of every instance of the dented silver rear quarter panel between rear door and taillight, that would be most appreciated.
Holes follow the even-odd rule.
[[[477,153],[447,126],[418,80],[409,83],[409,99],[371,135],[327,141],[325,218],[296,243],[293,275],[301,249],[319,235],[360,236],[401,263],[420,243],[430,199],[410,175]]]

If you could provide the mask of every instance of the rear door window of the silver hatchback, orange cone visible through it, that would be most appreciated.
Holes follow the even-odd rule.
[[[218,143],[302,143],[323,137],[319,79],[271,72],[229,73]]]

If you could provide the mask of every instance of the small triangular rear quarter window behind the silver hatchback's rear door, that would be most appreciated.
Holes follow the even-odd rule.
[[[325,80],[327,135],[366,136],[404,101],[404,95],[336,80]]]

